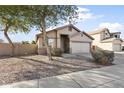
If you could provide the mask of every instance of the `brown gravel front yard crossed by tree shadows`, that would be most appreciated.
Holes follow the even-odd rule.
[[[31,55],[0,58],[0,85],[102,67],[85,57]]]

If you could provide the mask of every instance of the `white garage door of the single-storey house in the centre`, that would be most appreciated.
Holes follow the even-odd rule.
[[[89,53],[90,52],[89,43],[72,42],[71,48],[72,48],[72,53]]]

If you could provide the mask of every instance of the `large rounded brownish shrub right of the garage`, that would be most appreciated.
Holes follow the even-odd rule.
[[[112,64],[114,61],[114,52],[103,50],[98,47],[93,47],[91,49],[91,54],[95,62],[102,65]]]

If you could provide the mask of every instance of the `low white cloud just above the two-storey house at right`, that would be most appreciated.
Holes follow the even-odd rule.
[[[120,23],[105,22],[105,23],[99,24],[99,28],[104,28],[104,27],[110,29],[110,31],[112,31],[112,32],[124,30],[124,25],[120,24]]]

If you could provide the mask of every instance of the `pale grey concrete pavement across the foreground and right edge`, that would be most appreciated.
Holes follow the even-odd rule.
[[[116,54],[114,63],[103,68],[23,81],[1,88],[124,88],[124,54]]]

